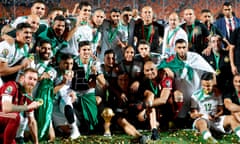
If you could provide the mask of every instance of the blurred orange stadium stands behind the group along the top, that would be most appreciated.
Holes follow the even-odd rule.
[[[1,23],[9,23],[12,19],[28,15],[29,7],[34,0],[1,0],[0,3],[0,20]],[[203,8],[210,9],[217,17],[221,12],[221,5],[225,0],[89,0],[93,4],[93,9],[97,7],[104,8],[108,13],[113,7],[122,8],[131,6],[140,9],[148,4],[154,9],[157,19],[165,20],[172,11],[182,12],[184,8],[191,7],[196,14],[200,14]],[[48,8],[63,7],[70,11],[74,8],[75,3],[81,0],[45,0]],[[232,0],[233,10],[236,16],[240,16],[237,8],[240,6],[240,0]],[[180,14],[181,16],[181,14]]]

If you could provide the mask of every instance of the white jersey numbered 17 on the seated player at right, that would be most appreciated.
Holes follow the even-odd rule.
[[[198,109],[201,114],[215,115],[218,112],[218,106],[223,106],[223,101],[222,97],[216,96],[215,93],[204,94],[200,89],[191,97],[191,108]]]

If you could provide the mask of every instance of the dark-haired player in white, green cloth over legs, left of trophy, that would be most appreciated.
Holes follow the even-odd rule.
[[[77,100],[73,103],[76,115],[81,125],[81,130],[93,130],[98,123],[97,103],[95,95],[96,84],[105,86],[100,62],[92,57],[91,43],[82,41],[79,43],[79,56],[74,58],[74,76],[71,89],[76,91]]]

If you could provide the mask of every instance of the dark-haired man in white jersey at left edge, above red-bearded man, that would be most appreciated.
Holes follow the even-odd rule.
[[[16,40],[7,40],[0,43],[0,76],[3,81],[15,80],[17,72],[30,64],[27,43],[32,40],[32,29],[27,23],[20,23],[16,30]],[[24,59],[24,60],[23,60]]]

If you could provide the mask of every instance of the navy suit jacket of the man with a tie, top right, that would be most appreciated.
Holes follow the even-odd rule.
[[[240,19],[237,17],[233,17],[233,20],[235,22],[235,29],[240,27]],[[222,17],[214,23],[217,28],[221,31],[222,35],[229,40],[228,33],[227,33],[227,27],[226,27],[226,21],[225,17]]]

